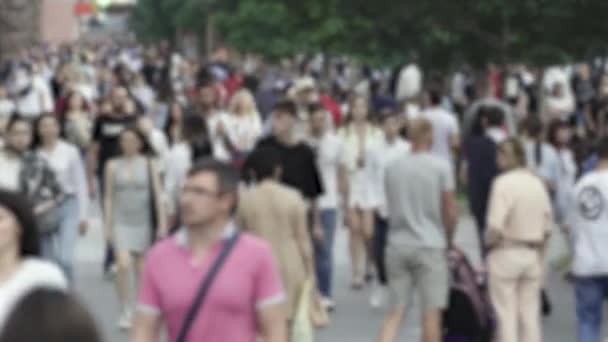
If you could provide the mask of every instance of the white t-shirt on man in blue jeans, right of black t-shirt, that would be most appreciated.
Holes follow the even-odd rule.
[[[323,182],[323,195],[319,198],[320,209],[338,207],[338,167],[342,163],[342,141],[333,132],[326,133],[313,146],[316,149],[317,166]]]

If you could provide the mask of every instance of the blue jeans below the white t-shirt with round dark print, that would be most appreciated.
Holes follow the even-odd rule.
[[[600,342],[608,276],[576,278],[575,291],[578,342]]]

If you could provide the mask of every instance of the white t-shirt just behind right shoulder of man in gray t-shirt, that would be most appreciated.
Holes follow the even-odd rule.
[[[451,165],[451,138],[460,132],[456,115],[441,107],[432,107],[420,113],[420,117],[430,120],[433,125],[432,153],[448,161]]]

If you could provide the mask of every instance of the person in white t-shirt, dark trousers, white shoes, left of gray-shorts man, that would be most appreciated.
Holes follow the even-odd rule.
[[[377,149],[374,159],[374,193],[378,196],[374,215],[374,260],[378,272],[378,284],[372,291],[370,305],[379,308],[388,299],[388,277],[386,275],[386,242],[388,236],[388,208],[384,189],[384,176],[387,166],[411,152],[409,141],[399,132],[401,123],[396,108],[384,113],[382,117],[384,138]]]

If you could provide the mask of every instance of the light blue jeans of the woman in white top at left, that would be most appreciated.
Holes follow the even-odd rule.
[[[68,196],[59,208],[59,229],[41,236],[42,255],[56,262],[66,277],[74,280],[74,249],[78,238],[80,211],[75,196]]]

